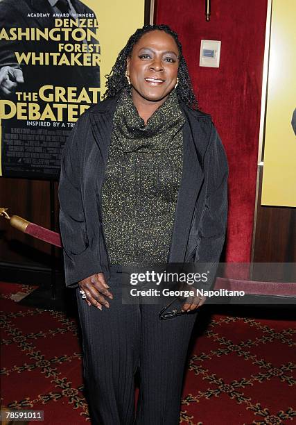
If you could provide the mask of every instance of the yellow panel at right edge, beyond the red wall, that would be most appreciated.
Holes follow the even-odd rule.
[[[296,1],[273,0],[262,205],[296,207]]]

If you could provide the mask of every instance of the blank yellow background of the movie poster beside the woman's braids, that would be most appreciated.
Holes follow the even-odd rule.
[[[98,19],[101,44],[101,96],[105,74],[109,74],[117,55],[130,35],[144,24],[144,0],[82,0]]]

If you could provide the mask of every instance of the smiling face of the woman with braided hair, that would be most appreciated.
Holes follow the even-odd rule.
[[[134,44],[128,58],[133,97],[164,101],[177,81],[179,50],[173,37],[164,31],[150,31]]]

